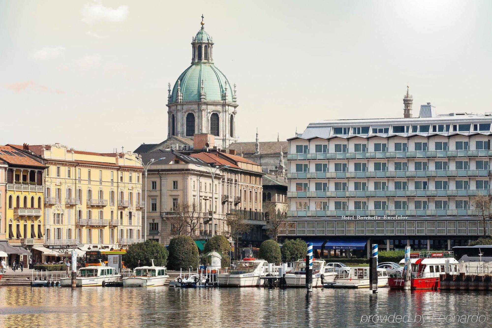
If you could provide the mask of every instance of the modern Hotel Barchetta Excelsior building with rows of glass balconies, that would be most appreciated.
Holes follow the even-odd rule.
[[[437,250],[483,235],[471,199],[490,195],[492,113],[427,103],[411,117],[403,100],[404,118],[311,123],[288,140],[284,237]]]

